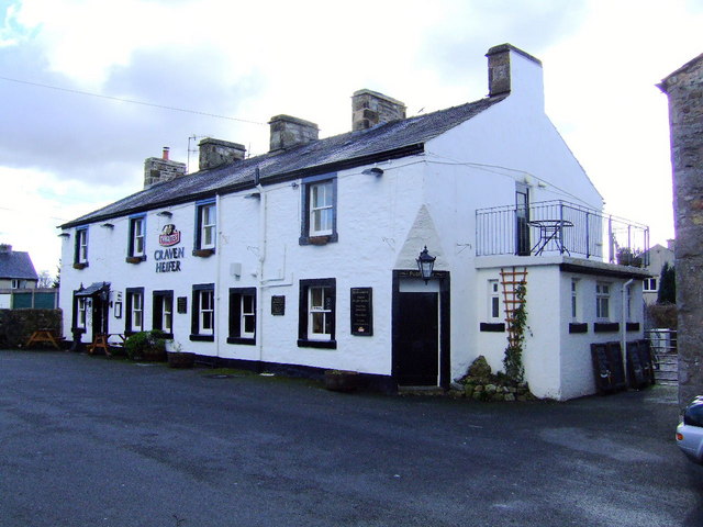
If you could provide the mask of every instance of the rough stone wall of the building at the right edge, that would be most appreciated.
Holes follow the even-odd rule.
[[[661,81],[669,96],[679,309],[679,403],[703,394],[703,54]]]

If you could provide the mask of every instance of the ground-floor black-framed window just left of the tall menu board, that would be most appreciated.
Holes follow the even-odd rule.
[[[299,346],[336,348],[335,305],[334,278],[300,281]]]

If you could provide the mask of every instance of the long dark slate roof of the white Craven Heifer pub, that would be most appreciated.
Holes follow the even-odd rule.
[[[480,99],[368,130],[313,141],[284,152],[268,153],[223,167],[179,176],[78,217],[62,227],[252,188],[257,168],[261,184],[266,184],[422,153],[425,142],[478,115],[505,97],[507,96]]]

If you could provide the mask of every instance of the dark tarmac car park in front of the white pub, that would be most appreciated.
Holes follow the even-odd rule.
[[[470,403],[0,351],[0,526],[701,526],[676,392]]]

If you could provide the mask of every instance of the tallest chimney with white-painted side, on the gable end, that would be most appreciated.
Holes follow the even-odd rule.
[[[511,44],[491,47],[488,57],[489,97],[527,96],[544,110],[542,61]]]

